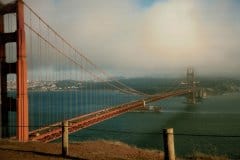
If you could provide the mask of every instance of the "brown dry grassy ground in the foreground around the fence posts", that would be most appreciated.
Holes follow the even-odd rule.
[[[62,160],[60,143],[19,143],[0,141],[0,159]],[[140,149],[118,141],[85,141],[69,144],[67,159],[94,160],[163,160],[159,150]],[[225,156],[206,155],[195,152],[193,155],[177,158],[179,160],[228,160]]]

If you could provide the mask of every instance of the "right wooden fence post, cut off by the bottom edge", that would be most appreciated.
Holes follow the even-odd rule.
[[[173,128],[163,129],[164,160],[175,160]]]

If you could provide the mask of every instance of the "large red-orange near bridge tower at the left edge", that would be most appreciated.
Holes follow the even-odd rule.
[[[6,33],[4,31],[4,15],[16,13],[16,31]],[[1,138],[9,136],[9,111],[10,107],[16,111],[16,132],[20,142],[28,141],[28,94],[27,94],[27,63],[26,63],[26,41],[24,29],[24,2],[17,0],[14,3],[0,4],[0,87],[1,87]],[[16,43],[17,60],[14,63],[6,61],[7,43]],[[16,99],[7,95],[7,75],[16,74]],[[11,110],[12,111],[12,110]]]

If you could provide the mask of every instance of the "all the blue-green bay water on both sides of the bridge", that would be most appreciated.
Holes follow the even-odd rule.
[[[134,98],[111,91],[104,94],[91,91],[83,94],[73,91],[31,92],[31,129]],[[174,128],[175,150],[179,156],[203,152],[240,159],[240,93],[210,96],[195,105],[187,104],[185,97],[151,105],[161,107],[161,112],[129,112],[76,132],[70,135],[70,141],[107,139],[163,150],[162,129]],[[15,132],[14,128],[11,131]]]

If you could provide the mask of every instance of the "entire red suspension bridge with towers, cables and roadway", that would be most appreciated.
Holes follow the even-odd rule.
[[[73,133],[169,97],[195,103],[193,69],[185,87],[149,95],[112,78],[22,0],[0,5],[2,138],[14,127],[18,141],[50,142],[64,120]]]

